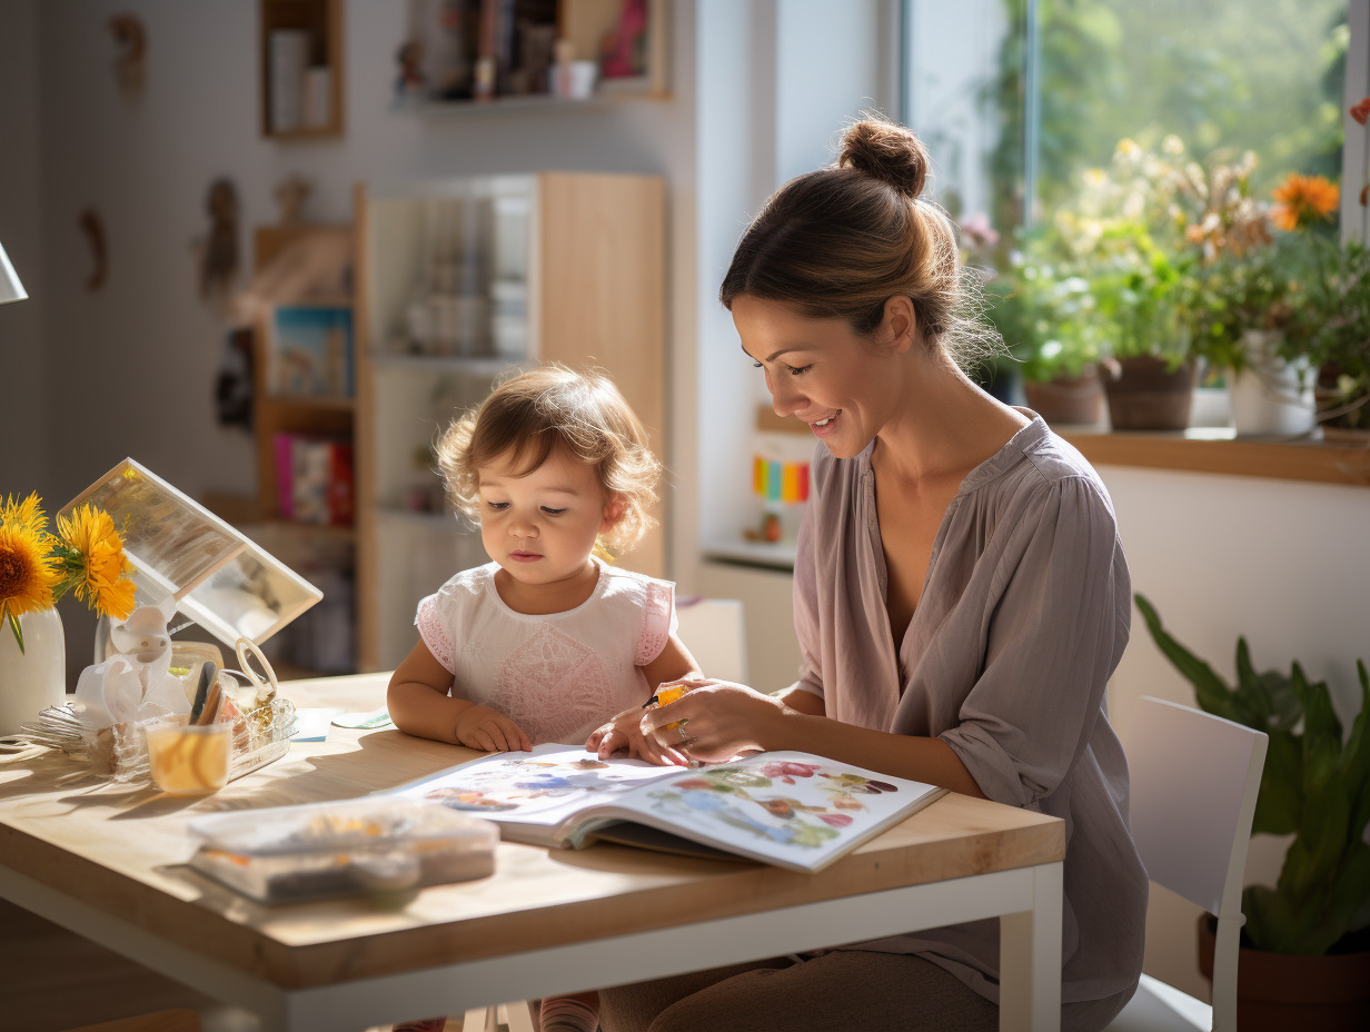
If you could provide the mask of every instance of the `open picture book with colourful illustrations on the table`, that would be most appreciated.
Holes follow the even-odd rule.
[[[811,873],[945,791],[807,752],[663,767],[547,744],[473,759],[392,794],[485,817],[508,841],[580,848],[604,839]]]

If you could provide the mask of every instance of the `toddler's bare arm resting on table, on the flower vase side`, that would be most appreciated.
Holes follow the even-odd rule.
[[[452,674],[419,639],[390,676],[385,704],[396,728],[421,739],[486,752],[533,748],[523,729],[503,713],[449,695],[452,689]]]

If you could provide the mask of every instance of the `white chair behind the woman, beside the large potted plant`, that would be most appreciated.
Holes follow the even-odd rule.
[[[1110,1032],[1237,1028],[1241,876],[1267,736],[1175,703],[1143,698],[1128,733],[1132,837],[1147,876],[1218,918],[1212,1006],[1141,976]]]

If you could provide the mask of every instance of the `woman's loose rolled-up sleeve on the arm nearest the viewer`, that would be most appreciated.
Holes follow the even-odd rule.
[[[1107,497],[1084,477],[1043,482],[1011,529],[985,610],[985,662],[940,737],[991,799],[1032,806],[1085,751],[1126,640],[1128,567]],[[1119,615],[1123,614],[1123,615]]]

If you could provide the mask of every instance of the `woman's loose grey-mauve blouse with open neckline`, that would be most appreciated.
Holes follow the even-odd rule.
[[[1147,874],[1104,698],[1132,615],[1108,492],[1040,418],[1014,434],[947,508],[896,655],[870,454],[815,451],[795,567],[799,687],[836,720],[937,736],[991,799],[1063,818],[1062,1002],[1130,996]],[[859,948],[926,955],[999,996],[995,920]]]

